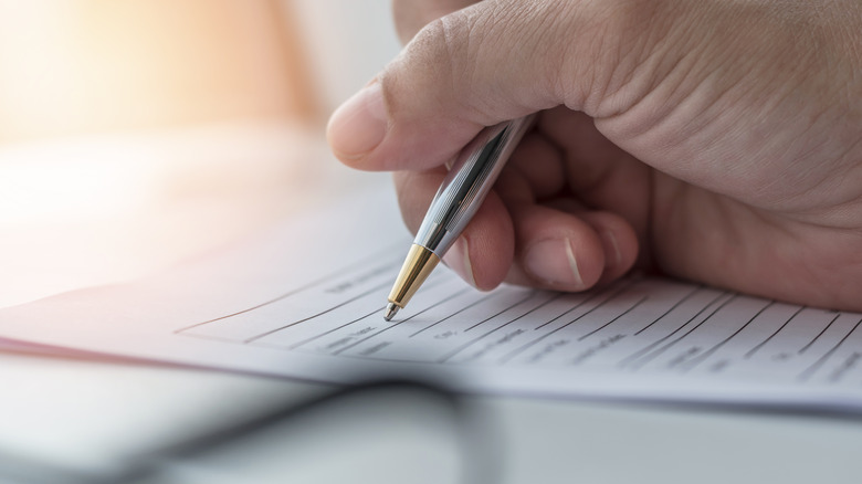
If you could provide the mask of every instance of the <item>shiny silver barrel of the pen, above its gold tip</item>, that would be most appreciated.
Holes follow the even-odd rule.
[[[459,155],[428,209],[414,242],[443,256],[475,214],[533,116],[483,129]]]

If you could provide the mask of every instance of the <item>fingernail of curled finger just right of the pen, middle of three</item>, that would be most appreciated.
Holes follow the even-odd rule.
[[[549,239],[530,245],[524,266],[530,275],[548,284],[584,286],[569,239]]]

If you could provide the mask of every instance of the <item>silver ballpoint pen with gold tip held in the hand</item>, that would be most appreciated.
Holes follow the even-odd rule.
[[[407,305],[476,213],[534,116],[487,127],[461,150],[431,201],[389,293],[386,320]]]

